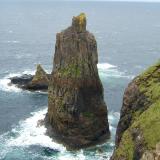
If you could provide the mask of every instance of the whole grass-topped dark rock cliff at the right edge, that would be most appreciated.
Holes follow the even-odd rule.
[[[160,159],[160,61],[125,90],[111,159]]]

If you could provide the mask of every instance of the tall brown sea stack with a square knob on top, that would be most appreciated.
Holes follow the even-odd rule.
[[[46,115],[48,134],[70,149],[110,136],[97,63],[97,43],[86,30],[85,14],[73,17],[72,26],[56,37]]]

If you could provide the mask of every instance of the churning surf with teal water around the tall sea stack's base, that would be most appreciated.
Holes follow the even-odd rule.
[[[20,121],[19,125],[13,128],[11,132],[0,135],[0,159],[9,160],[9,157],[16,159],[20,153],[23,157],[29,152],[32,157],[41,157],[46,160],[109,160],[113,152],[114,135],[119,113],[111,112],[109,114],[112,138],[108,142],[90,149],[67,151],[63,145],[46,136],[46,128],[44,126],[37,126],[38,120],[44,119],[46,112],[46,108],[33,112],[29,118]],[[40,149],[33,152],[36,148]],[[46,154],[43,155],[42,151],[45,151]]]

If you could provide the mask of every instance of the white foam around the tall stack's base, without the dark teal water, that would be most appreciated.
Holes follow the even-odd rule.
[[[38,120],[44,119],[45,114],[47,112],[47,108],[42,109],[38,112],[31,113],[31,116],[23,121],[19,122],[19,125],[12,129],[10,133],[7,132],[6,134],[0,135],[0,158],[4,158],[8,153],[12,153],[12,150],[16,148],[23,148],[25,150],[26,147],[31,145],[39,145],[42,147],[49,147],[51,149],[58,150],[58,155],[56,157],[57,160],[88,160],[88,158],[92,158],[93,160],[100,159],[103,160],[105,157],[106,160],[109,160],[110,156],[112,155],[112,150],[104,151],[103,153],[99,153],[98,150],[96,152],[96,148],[99,147],[106,147],[114,146],[114,136],[115,136],[115,128],[112,126],[113,121],[118,122],[119,113],[118,112],[110,112],[109,113],[109,122],[110,122],[110,129],[112,133],[112,138],[107,141],[107,143],[102,145],[97,145],[95,147],[95,151],[91,151],[90,154],[86,154],[85,151],[82,149],[76,152],[67,151],[66,148],[58,144],[48,136],[45,135],[46,128],[44,126],[37,127]],[[114,132],[114,133],[113,133]],[[3,146],[3,147],[2,147]],[[37,153],[37,157],[41,153]],[[90,157],[91,156],[91,157]],[[45,157],[44,159],[54,159],[53,157]]]

